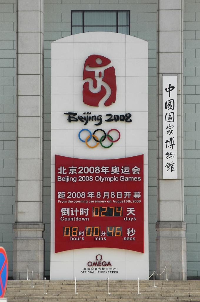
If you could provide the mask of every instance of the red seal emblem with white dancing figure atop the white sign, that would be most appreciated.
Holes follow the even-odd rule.
[[[84,64],[83,103],[98,107],[110,106],[116,100],[117,85],[115,69],[105,56],[91,55]]]

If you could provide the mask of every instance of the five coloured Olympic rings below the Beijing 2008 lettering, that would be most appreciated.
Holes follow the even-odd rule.
[[[86,140],[82,140],[82,138],[80,137],[80,134],[81,134],[83,131],[88,131],[88,132],[89,132],[89,135],[86,137]],[[96,133],[97,131],[102,131],[103,134],[104,134],[100,139],[98,139],[98,137],[95,135],[95,133]],[[117,140],[113,140],[113,138],[111,137],[111,135],[109,135],[109,133],[110,133],[111,131],[117,131],[117,133],[118,133],[118,135],[119,135],[118,138],[117,138]],[[79,137],[80,141],[83,142],[83,143],[86,143],[86,145],[87,145],[89,148],[92,148],[92,149],[95,148],[95,147],[97,147],[99,143],[100,143],[100,145],[101,145],[103,148],[110,148],[110,147],[113,145],[113,143],[117,142],[117,141],[120,139],[120,136],[121,136],[121,134],[120,134],[119,130],[117,130],[117,129],[111,129],[111,130],[108,131],[107,134],[105,133],[105,131],[104,131],[103,129],[96,129],[96,130],[93,132],[93,134],[92,134],[92,132],[91,132],[89,129],[82,129],[82,130],[79,131],[79,134],[78,134],[78,137]],[[95,140],[95,142],[96,142],[96,145],[95,145],[95,146],[90,146],[90,145],[88,144],[88,142],[91,140],[92,137],[93,137],[93,140]],[[106,139],[106,137],[108,137],[108,140],[111,142],[111,144],[110,144],[109,146],[104,146],[104,145],[102,144],[102,142]]]

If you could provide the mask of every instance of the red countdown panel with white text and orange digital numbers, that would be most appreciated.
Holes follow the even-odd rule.
[[[55,252],[89,247],[144,252],[143,155],[55,156]]]

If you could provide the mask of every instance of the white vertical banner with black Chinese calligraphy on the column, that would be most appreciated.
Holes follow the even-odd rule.
[[[177,179],[177,76],[163,76],[163,178]]]

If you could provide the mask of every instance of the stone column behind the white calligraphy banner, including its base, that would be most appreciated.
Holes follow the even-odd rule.
[[[158,0],[158,222],[157,272],[186,280],[186,223],[183,213],[183,0]],[[162,76],[177,75],[178,179],[162,178]],[[158,276],[157,276],[158,277]],[[158,277],[165,278],[165,275]]]

